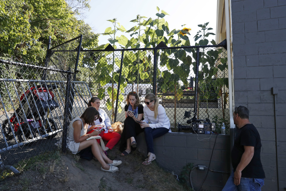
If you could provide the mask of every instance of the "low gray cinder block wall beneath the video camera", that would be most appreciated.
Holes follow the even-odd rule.
[[[147,156],[144,132],[138,135],[136,141],[137,149]],[[188,163],[205,165],[206,167],[209,167],[210,164],[210,170],[229,172],[229,143],[229,135],[212,135],[210,137],[210,135],[204,134],[196,135],[171,132],[154,139],[153,144],[156,161],[159,166],[179,176],[183,167]],[[198,169],[195,168],[192,171],[192,184],[195,190],[198,190],[202,185],[206,173],[207,169],[198,171]],[[227,173],[209,171],[202,189],[220,191],[226,183],[228,176],[229,174]]]

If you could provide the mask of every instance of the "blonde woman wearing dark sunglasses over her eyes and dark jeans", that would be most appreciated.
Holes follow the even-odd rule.
[[[144,103],[146,104],[143,109],[145,119],[141,121],[143,123],[140,126],[144,128],[148,157],[142,164],[149,165],[156,159],[153,149],[153,139],[171,132],[171,128],[170,120],[166,115],[164,107],[159,105],[158,98],[153,93],[148,93],[145,96]]]

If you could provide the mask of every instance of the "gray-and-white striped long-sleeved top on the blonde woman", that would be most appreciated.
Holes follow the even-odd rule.
[[[147,106],[143,108],[144,111],[144,122],[149,123],[149,126],[151,128],[160,128],[165,127],[169,129],[169,132],[171,132],[170,129],[170,120],[166,115],[165,108],[161,105],[158,106],[158,115],[155,119],[154,117],[154,111],[151,111]]]

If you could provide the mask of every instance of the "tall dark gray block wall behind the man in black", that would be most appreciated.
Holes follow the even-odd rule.
[[[278,88],[279,190],[286,187],[286,1],[231,0],[234,103],[250,110],[259,131],[266,174],[262,190],[278,190],[274,104]]]

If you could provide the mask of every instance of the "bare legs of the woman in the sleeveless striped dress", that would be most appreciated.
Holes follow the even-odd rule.
[[[104,170],[109,170],[110,166],[107,163],[113,163],[104,153],[100,145],[97,143],[96,139],[90,139],[88,141],[82,141],[78,150],[85,149],[91,146],[91,151],[94,157],[98,160]],[[103,155],[102,155],[103,154]]]

